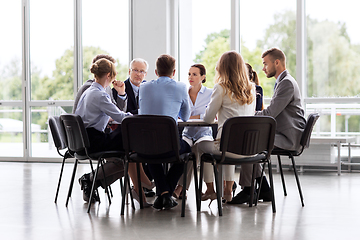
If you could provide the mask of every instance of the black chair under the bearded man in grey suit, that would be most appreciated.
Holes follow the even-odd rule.
[[[282,169],[282,165],[281,165],[280,156],[288,156],[291,159],[292,167],[293,167],[294,174],[295,174],[296,183],[297,183],[298,190],[299,190],[301,205],[303,207],[305,206],[304,205],[304,197],[303,197],[303,194],[302,194],[302,191],[301,191],[300,180],[299,180],[299,176],[297,174],[294,157],[300,156],[303,153],[304,149],[309,147],[311,132],[312,132],[312,130],[314,128],[314,125],[315,125],[315,123],[316,123],[316,121],[318,120],[319,117],[320,117],[320,115],[318,113],[311,113],[308,116],[308,119],[307,119],[307,122],[306,122],[306,125],[305,125],[305,129],[303,131],[303,134],[302,134],[301,140],[300,140],[300,145],[301,145],[300,150],[292,151],[292,150],[286,150],[286,149],[281,149],[281,148],[274,148],[273,151],[271,152],[271,155],[277,155],[277,157],[278,157],[279,170],[280,170],[281,181],[282,181],[283,190],[284,190],[284,196],[287,196],[287,192],[286,192],[285,178],[284,178],[284,174],[283,174],[283,169]]]

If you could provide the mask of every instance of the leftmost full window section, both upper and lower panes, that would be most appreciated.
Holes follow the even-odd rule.
[[[0,1],[0,157],[23,156],[21,1]]]

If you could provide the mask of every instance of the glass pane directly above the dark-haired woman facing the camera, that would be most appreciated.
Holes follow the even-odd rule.
[[[230,15],[230,0],[192,1],[193,60],[204,64],[206,68],[204,85],[210,88],[214,86],[216,62],[221,54],[230,50]],[[186,76],[187,79],[187,72],[182,73],[182,76]]]

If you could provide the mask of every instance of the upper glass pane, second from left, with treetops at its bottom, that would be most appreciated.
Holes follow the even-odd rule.
[[[73,0],[30,1],[31,99],[74,98]]]

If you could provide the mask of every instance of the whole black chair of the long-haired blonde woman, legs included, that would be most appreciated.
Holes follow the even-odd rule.
[[[240,116],[229,118],[223,125],[221,140],[220,140],[220,154],[204,153],[201,155],[200,167],[200,183],[203,178],[204,162],[211,163],[214,168],[217,202],[219,209],[219,216],[222,216],[222,202],[220,192],[221,180],[218,176],[217,165],[241,165],[241,164],[255,164],[268,163],[269,178],[272,196],[272,209],[276,212],[273,176],[271,169],[270,153],[274,146],[276,122],[274,118],[268,116]],[[225,155],[226,152],[249,155],[245,158],[231,158]],[[255,168],[253,167],[253,175],[251,182],[250,203],[251,207],[254,202],[255,191]],[[201,193],[200,184],[199,194]],[[200,208],[198,208],[198,211]]]

